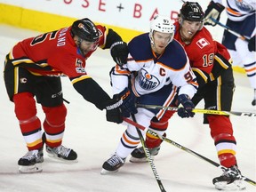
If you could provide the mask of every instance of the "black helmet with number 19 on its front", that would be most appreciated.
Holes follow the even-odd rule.
[[[204,20],[204,12],[197,2],[185,2],[180,9],[180,17],[182,20],[202,22]]]

